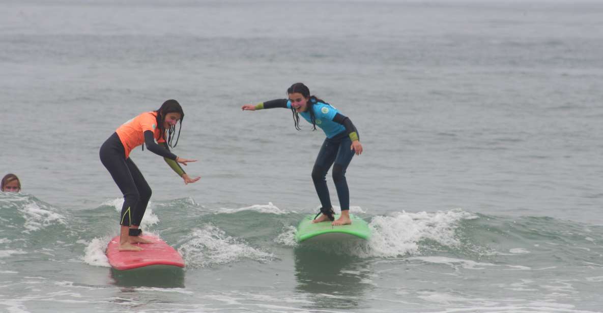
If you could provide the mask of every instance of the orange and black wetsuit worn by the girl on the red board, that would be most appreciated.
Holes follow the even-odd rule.
[[[155,140],[162,146],[155,143]],[[178,175],[185,174],[157,127],[156,112],[142,113],[119,126],[103,143],[99,156],[101,163],[109,170],[113,181],[124,194],[124,205],[119,220],[119,225],[122,226],[139,226],[151,199],[151,187],[130,158],[130,152],[140,144],[146,144],[148,150],[162,156]]]

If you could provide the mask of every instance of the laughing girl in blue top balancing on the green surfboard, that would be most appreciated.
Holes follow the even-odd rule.
[[[289,99],[276,99],[262,102],[257,105],[243,105],[242,110],[255,111],[270,108],[289,108],[293,113],[295,129],[300,130],[299,116],[312,124],[323,129],[327,138],[318,152],[318,157],[312,169],[312,181],[318,193],[322,207],[322,215],[314,218],[314,223],[326,220],[333,221],[332,225],[351,224],[350,220],[350,191],[347,188],[346,169],[352,161],[354,153],[362,153],[362,144],[358,138],[358,131],[352,121],[339,113],[327,102],[310,95],[310,90],[301,82],[291,85],[287,89]],[[334,164],[334,165],[333,165]],[[330,167],[333,166],[333,182],[337,189],[339,205],[341,206],[341,217],[335,220],[333,208],[329,198],[329,189],[325,179]],[[319,213],[320,214],[320,213]]]

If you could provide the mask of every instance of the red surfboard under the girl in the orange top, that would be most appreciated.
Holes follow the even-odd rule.
[[[185,261],[174,248],[159,237],[140,236],[153,243],[136,244],[142,251],[119,251],[119,236],[114,237],[107,245],[107,259],[116,270],[131,270],[149,265],[171,265],[185,267]]]

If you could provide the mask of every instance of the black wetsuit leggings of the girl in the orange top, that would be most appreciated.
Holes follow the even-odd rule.
[[[103,143],[99,156],[124,194],[119,225],[140,226],[151,199],[151,187],[132,159],[125,158],[124,146],[116,132]]]

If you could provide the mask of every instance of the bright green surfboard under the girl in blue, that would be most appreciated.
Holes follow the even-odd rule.
[[[371,236],[371,231],[368,228],[368,223],[362,218],[350,214],[352,225],[332,226],[331,221],[312,223],[316,214],[307,215],[299,225],[295,232],[295,241],[301,243],[303,241],[313,240],[368,240]],[[335,219],[339,218],[339,214],[335,214]]]

